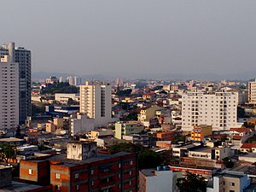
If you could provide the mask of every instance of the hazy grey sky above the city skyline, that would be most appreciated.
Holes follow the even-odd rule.
[[[33,72],[256,71],[255,0],[0,0],[0,13],[0,44],[31,49]]]

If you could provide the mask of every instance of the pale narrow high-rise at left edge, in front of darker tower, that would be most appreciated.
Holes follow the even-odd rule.
[[[19,64],[5,55],[0,61],[0,130],[19,125]]]

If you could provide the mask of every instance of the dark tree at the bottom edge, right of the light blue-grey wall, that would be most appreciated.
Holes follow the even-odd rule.
[[[206,178],[191,172],[187,172],[185,177],[177,179],[176,185],[180,192],[207,191]]]

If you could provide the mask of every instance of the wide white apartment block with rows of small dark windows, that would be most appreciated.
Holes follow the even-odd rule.
[[[191,91],[182,95],[182,129],[192,131],[195,125],[212,125],[214,131],[238,127],[238,93],[234,91]]]

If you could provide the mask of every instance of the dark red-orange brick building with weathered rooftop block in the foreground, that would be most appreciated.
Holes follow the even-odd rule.
[[[57,154],[44,160],[21,160],[20,178],[37,181],[42,177],[55,192],[137,192],[137,154],[101,155],[95,148],[95,143],[69,143],[67,157]],[[43,180],[45,175],[49,180]]]

